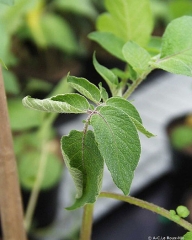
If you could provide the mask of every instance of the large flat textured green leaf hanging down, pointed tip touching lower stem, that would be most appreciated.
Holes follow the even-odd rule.
[[[125,112],[113,106],[100,107],[90,123],[114,183],[128,194],[141,152],[135,125]]]

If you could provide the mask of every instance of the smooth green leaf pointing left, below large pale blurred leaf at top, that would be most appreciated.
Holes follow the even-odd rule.
[[[115,36],[113,33],[109,32],[92,32],[88,35],[91,40],[99,43],[105,50],[111,53],[113,56],[125,61],[122,48],[126,43],[121,38]]]

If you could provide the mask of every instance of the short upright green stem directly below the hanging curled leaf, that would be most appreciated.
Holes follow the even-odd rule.
[[[94,204],[88,203],[84,206],[80,240],[90,240],[91,239],[93,209],[94,209]]]

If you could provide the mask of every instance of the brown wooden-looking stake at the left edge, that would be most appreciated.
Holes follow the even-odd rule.
[[[0,212],[4,240],[25,240],[23,209],[0,67]]]

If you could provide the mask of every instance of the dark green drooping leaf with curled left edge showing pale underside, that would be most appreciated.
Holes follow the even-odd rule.
[[[100,193],[104,161],[92,131],[71,131],[62,137],[62,153],[75,186],[76,201],[68,210],[94,203]]]

